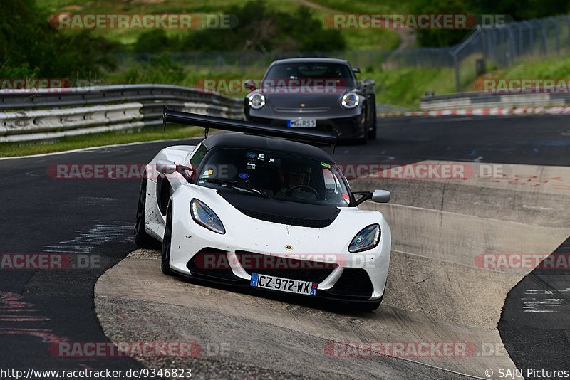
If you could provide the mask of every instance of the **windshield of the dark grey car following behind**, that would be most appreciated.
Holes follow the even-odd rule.
[[[280,83],[296,83],[310,85],[334,81],[337,87],[353,88],[353,73],[348,65],[341,63],[279,63],[267,71],[263,87],[279,86]]]

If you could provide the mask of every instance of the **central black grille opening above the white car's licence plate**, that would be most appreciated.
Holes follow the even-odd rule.
[[[311,283],[322,283],[338,267],[338,264],[334,263],[277,258],[276,256],[249,253],[243,250],[237,250],[236,255],[239,263],[249,275],[260,273],[292,280],[310,281]]]

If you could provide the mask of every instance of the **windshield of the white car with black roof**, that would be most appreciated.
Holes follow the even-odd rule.
[[[206,159],[199,186],[307,204],[350,203],[341,171],[330,162],[257,149],[218,149]]]

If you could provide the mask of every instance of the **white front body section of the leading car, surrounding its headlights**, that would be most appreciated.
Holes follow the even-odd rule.
[[[217,213],[222,223],[232,221],[231,226],[225,226],[225,234],[214,233],[192,220],[189,211],[193,197],[204,201]],[[391,233],[388,223],[378,211],[341,208],[330,226],[309,228],[246,216],[229,205],[216,191],[201,186],[180,188],[173,194],[172,201],[169,265],[181,275],[249,287],[252,273],[265,273],[318,283],[316,297],[336,300],[375,301],[384,294],[390,263]],[[378,246],[362,253],[349,253],[351,238],[372,223],[380,226]],[[204,254],[209,254],[207,260],[199,256]],[[263,256],[270,261],[306,261],[305,264],[309,265],[301,267],[307,270],[296,269],[299,266],[285,269],[259,267],[257,262],[245,263],[244,254]],[[212,266],[212,263],[221,265]],[[314,268],[318,270],[314,271]],[[270,273],[268,270],[281,272]]]

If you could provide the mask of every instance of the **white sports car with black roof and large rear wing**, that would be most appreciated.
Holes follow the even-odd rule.
[[[162,241],[162,272],[350,302],[375,310],[390,262],[388,191],[352,192],[318,147],[326,132],[165,110],[165,122],[242,131],[162,149],[147,164],[135,227],[140,247]],[[259,135],[261,134],[261,135]]]

